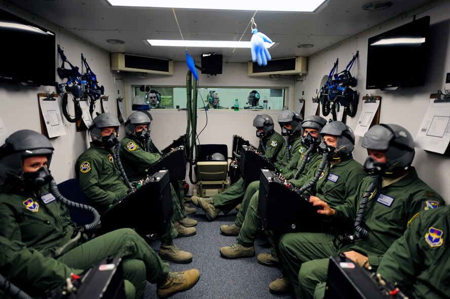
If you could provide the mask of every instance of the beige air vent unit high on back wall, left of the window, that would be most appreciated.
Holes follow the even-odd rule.
[[[117,72],[173,75],[173,60],[125,53],[111,53],[111,70]]]

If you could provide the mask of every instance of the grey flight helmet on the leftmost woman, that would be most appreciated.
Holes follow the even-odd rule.
[[[11,134],[0,147],[0,178],[5,182],[23,181],[23,159],[30,156],[46,156],[49,167],[53,150],[49,139],[40,133],[20,130]]]

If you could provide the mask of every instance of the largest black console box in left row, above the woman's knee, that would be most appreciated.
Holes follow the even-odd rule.
[[[101,215],[104,231],[133,228],[140,235],[164,232],[172,218],[169,171],[160,170]]]

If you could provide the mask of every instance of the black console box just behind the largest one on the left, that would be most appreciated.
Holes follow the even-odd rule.
[[[167,169],[169,170],[170,181],[184,180],[186,178],[186,163],[184,146],[178,146],[148,167],[147,174],[154,174],[159,170]]]

